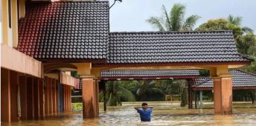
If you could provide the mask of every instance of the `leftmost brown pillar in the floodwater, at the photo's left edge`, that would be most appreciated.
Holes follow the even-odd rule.
[[[10,70],[1,68],[1,122],[10,121]]]

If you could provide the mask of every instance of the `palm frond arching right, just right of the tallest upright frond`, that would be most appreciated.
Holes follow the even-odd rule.
[[[198,16],[198,15],[192,15],[192,16],[189,16],[183,26],[182,26],[182,30],[193,30],[193,27],[196,25],[196,22],[200,19],[201,17]]]

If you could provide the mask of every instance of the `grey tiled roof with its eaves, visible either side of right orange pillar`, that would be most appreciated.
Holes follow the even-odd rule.
[[[256,89],[256,75],[247,73],[242,70],[230,69],[229,73],[232,76],[233,89]],[[211,90],[214,86],[214,81],[210,77],[199,77],[193,85],[194,90]]]

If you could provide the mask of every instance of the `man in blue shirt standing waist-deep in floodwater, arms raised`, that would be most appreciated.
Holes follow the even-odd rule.
[[[134,107],[141,116],[141,122],[150,122],[150,116],[153,110],[153,107],[148,107],[147,103],[142,103],[141,107]]]

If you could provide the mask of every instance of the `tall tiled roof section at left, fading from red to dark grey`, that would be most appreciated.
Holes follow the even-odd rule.
[[[36,59],[106,59],[108,1],[29,2],[17,49]]]

